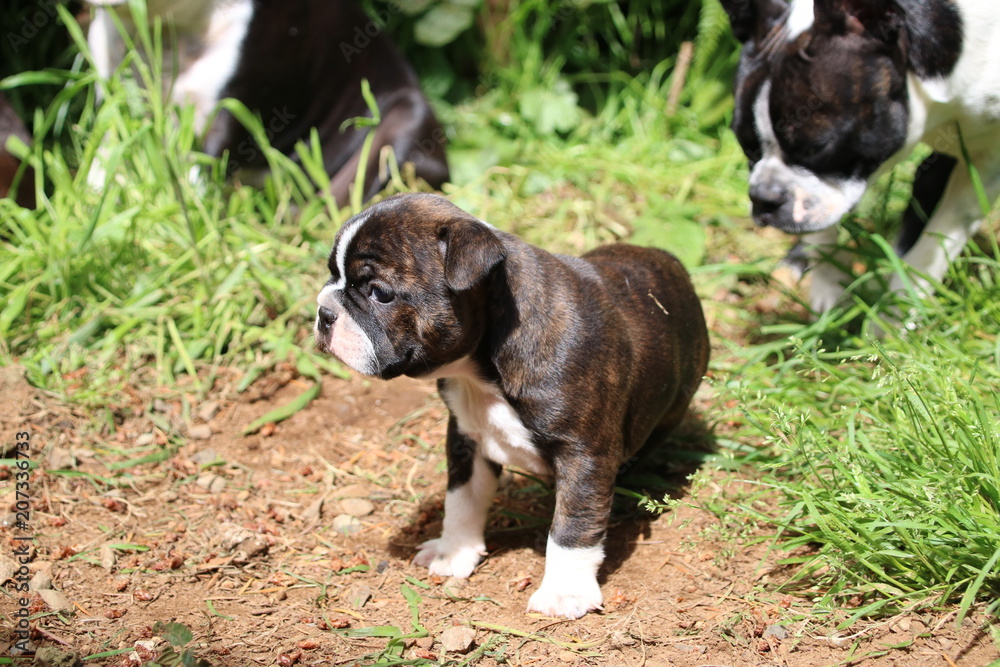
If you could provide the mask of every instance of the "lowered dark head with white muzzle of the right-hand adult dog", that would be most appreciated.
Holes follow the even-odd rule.
[[[902,10],[894,0],[723,5],[744,44],[733,129],[754,220],[794,234],[836,224],[915,141]]]

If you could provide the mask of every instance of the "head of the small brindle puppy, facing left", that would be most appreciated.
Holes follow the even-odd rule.
[[[431,374],[474,350],[480,288],[504,258],[492,227],[442,197],[375,204],[334,241],[316,345],[366,375]]]

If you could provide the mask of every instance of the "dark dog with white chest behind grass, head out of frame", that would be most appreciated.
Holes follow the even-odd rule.
[[[89,1],[95,14],[88,42],[98,73],[107,78],[125,56],[111,12],[129,27],[129,10],[126,0]],[[365,170],[365,198],[386,183],[379,173],[385,147],[432,187],[448,179],[445,133],[413,69],[351,0],[147,0],[147,11],[150,21],[159,17],[165,25],[164,78],[172,98],[194,105],[198,129],[207,130],[205,152],[228,151],[231,168],[252,172],[266,162],[228,112],[206,127],[227,97],[259,113],[271,145],[285,154],[294,155],[296,142],[308,141],[316,128],[331,190],[346,204],[365,132],[341,126],[371,115],[361,95],[367,79],[382,122]],[[102,176],[95,171],[97,180]]]

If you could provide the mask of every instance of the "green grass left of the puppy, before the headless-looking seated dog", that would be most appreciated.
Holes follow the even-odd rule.
[[[221,365],[297,357],[318,258],[347,214],[314,195],[309,174],[326,176],[304,147],[304,168],[271,151],[262,191],[227,184],[225,165],[194,150],[190,110],[166,105],[158,73],[131,63],[152,85],[123,67],[96,112],[93,75],[62,74],[66,95],[36,114],[25,156],[46,195],[37,211],[0,201],[11,239],[0,249],[3,351],[39,386],[97,404],[139,369],[204,391]],[[62,122],[77,96],[91,105]],[[108,175],[95,188],[87,171],[99,150]],[[90,392],[70,396],[62,378],[83,366],[95,374]]]

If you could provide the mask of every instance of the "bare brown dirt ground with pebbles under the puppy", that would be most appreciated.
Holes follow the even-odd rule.
[[[244,436],[310,381],[279,368],[241,394],[234,371],[202,401],[136,391],[95,415],[33,388],[17,367],[2,370],[0,442],[30,434],[36,467],[27,530],[14,525],[16,470],[0,469],[0,515],[11,512],[0,528],[0,577],[9,580],[0,656],[18,654],[12,559],[24,543],[15,538],[27,535],[31,643],[55,654],[34,664],[72,664],[72,652],[101,656],[86,664],[149,664],[168,646],[159,624],[170,622],[193,633],[183,650],[212,665],[1000,658],[976,629],[981,618],[956,631],[949,610],[837,631],[847,612],[823,615],[809,591],[776,591],[787,574],[774,565],[780,554],[754,540],[755,526],[734,541],[716,514],[681,506],[657,516],[627,498],[608,538],[604,611],[577,621],[527,614],[552,497],[539,480],[511,473],[488,528],[489,557],[467,582],[429,576],[410,561],[441,524],[445,409],[430,382],[326,377],[307,409]],[[696,400],[689,440],[705,437],[697,415],[712,409],[710,392]],[[668,465],[660,474],[688,500],[739,493],[745,476],[715,472],[693,491],[690,472]]]

